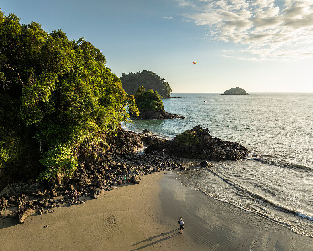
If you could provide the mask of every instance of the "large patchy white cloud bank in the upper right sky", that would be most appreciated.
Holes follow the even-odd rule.
[[[254,61],[313,56],[313,0],[200,0],[187,20],[207,26],[209,40],[246,46]],[[200,4],[200,6],[199,6]],[[242,58],[241,58],[242,59]]]

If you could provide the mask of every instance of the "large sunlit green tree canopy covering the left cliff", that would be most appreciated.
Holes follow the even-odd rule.
[[[48,34],[0,11],[0,168],[18,173],[32,158],[46,168],[40,179],[70,175],[81,149],[103,142],[128,111],[138,114],[105,63],[84,38],[69,41],[60,29]]]

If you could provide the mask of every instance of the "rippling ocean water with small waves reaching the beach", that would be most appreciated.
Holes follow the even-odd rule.
[[[313,93],[220,94],[172,93],[180,98],[162,99],[164,108],[185,120],[134,120],[126,127],[172,139],[200,125],[213,137],[242,144],[251,152],[244,160],[212,162],[210,168],[194,160],[177,178],[184,186],[313,237]]]

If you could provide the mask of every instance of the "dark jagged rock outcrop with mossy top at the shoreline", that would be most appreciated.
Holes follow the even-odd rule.
[[[208,129],[203,129],[200,125],[175,136],[173,140],[152,144],[145,149],[145,152],[162,152],[163,149],[165,154],[176,157],[213,161],[239,160],[249,154],[249,150],[237,142],[213,138]]]

